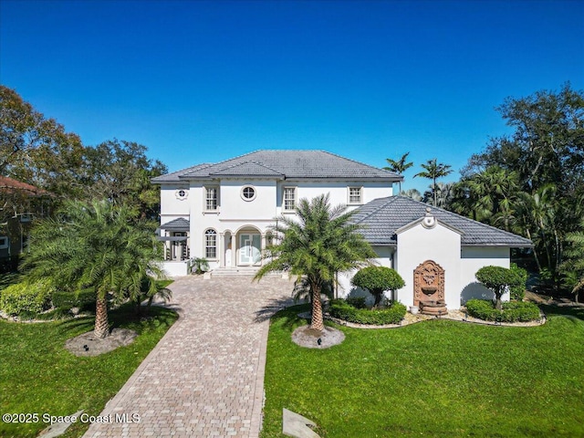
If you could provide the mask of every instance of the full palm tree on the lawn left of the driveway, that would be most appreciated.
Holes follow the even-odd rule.
[[[119,300],[136,299],[155,285],[149,276],[162,274],[151,226],[138,220],[127,206],[108,201],[66,203],[55,218],[41,221],[33,229],[30,253],[24,267],[28,276],[49,278],[56,286],[76,293],[87,287],[96,292],[95,336],[109,334],[109,294]]]

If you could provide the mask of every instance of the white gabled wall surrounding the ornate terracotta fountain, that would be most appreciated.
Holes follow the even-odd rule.
[[[426,260],[444,269],[444,300],[450,310],[460,308],[461,235],[439,222],[433,228],[412,226],[398,235],[397,271],[405,287],[398,291],[399,300],[413,306],[413,271]]]

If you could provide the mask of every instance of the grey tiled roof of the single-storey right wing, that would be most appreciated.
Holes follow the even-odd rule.
[[[446,224],[461,233],[463,246],[533,246],[532,242],[524,237],[405,196],[375,199],[361,205],[355,210],[352,222],[363,226],[360,233],[371,245],[393,246],[397,245],[396,231],[422,218],[428,207],[430,207],[430,214],[438,220],[438,223]]]

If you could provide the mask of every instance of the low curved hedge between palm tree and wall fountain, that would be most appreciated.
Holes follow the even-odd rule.
[[[405,316],[403,304],[393,301],[390,308],[353,308],[344,299],[335,299],[330,303],[329,313],[334,318],[343,319],[356,324],[381,326],[397,324]]]

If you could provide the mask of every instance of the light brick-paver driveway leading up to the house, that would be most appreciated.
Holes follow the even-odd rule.
[[[180,318],[101,412],[111,422],[84,436],[257,437],[268,319],[293,286],[277,276],[177,279],[170,307]]]

